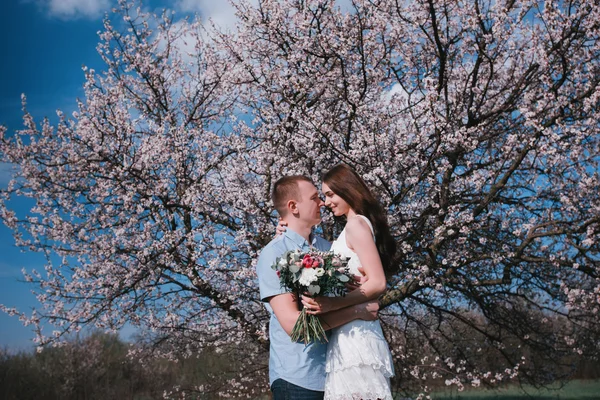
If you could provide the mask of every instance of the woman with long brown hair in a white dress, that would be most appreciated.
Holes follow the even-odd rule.
[[[396,252],[381,205],[362,178],[340,164],[323,177],[325,206],[347,219],[331,250],[349,258],[351,272],[362,266],[367,281],[344,297],[302,296],[312,314],[321,314],[379,297],[393,274]],[[325,399],[392,399],[394,375],[388,344],[376,321],[355,320],[332,331],[327,348]]]

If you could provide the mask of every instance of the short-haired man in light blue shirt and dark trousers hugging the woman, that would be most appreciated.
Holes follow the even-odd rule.
[[[278,180],[272,199],[287,229],[262,250],[257,264],[260,298],[271,314],[269,383],[275,400],[322,399],[327,344],[291,341],[289,335],[300,315],[298,301],[281,288],[271,267],[288,250],[329,250],[329,242],[312,234],[313,227],[321,222],[324,203],[312,180],[300,175]],[[319,318],[325,329],[331,329],[354,319],[374,320],[377,309],[377,302],[372,301],[321,314]]]

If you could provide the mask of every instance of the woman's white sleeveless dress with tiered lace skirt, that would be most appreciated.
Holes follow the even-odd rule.
[[[371,231],[367,217],[362,216]],[[331,251],[349,258],[350,271],[359,274],[356,253],[346,245],[346,229],[331,245]],[[334,329],[327,346],[325,364],[326,400],[392,400],[390,377],[394,376],[392,355],[379,320],[354,320]]]

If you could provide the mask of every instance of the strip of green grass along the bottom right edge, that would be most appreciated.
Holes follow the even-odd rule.
[[[555,386],[551,389],[535,389],[531,386],[507,386],[500,389],[465,389],[458,392],[433,392],[434,400],[597,400],[600,399],[600,381],[572,381],[562,388]]]

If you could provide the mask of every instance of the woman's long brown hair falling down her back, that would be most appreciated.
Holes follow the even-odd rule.
[[[387,277],[398,272],[395,260],[396,241],[381,204],[375,199],[365,181],[346,164],[338,164],[323,176],[323,182],[360,215],[371,221],[375,234],[375,245]]]

